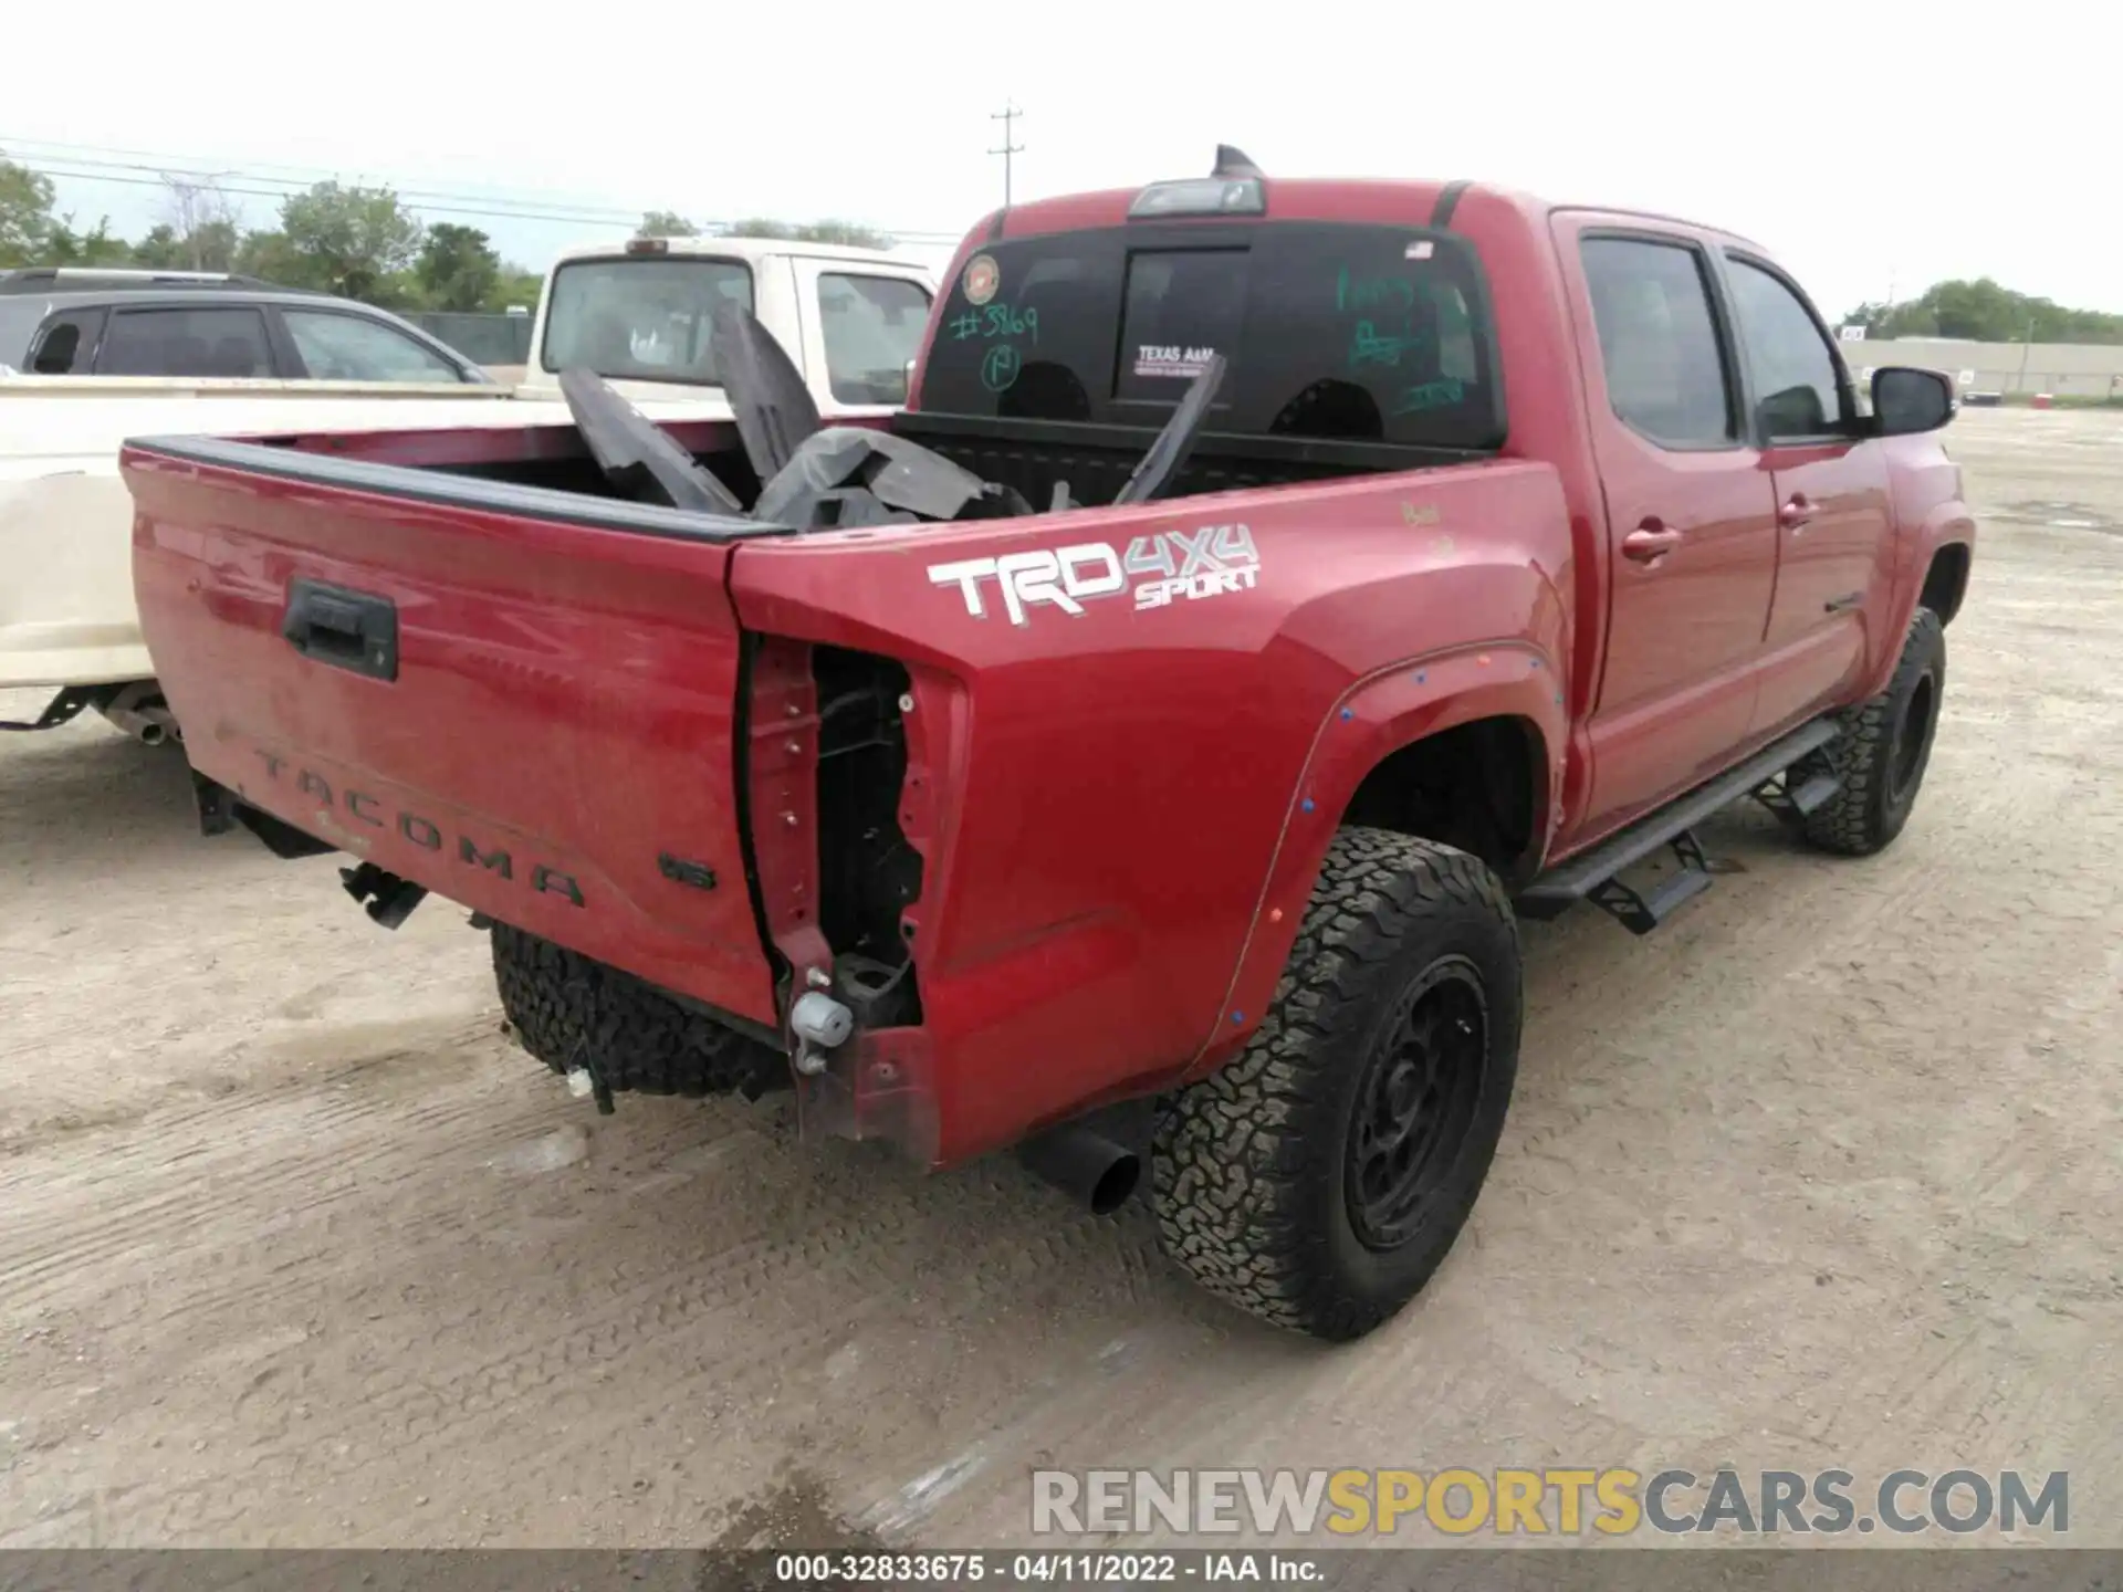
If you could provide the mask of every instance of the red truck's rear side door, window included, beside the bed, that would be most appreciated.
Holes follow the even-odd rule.
[[[1611,607],[1588,824],[1611,830],[1715,773],[1747,739],[1775,495],[1743,429],[1709,244],[1569,214],[1556,227],[1607,497]]]

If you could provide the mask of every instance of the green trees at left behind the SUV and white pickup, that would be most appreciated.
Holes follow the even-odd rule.
[[[238,272],[276,287],[335,293],[386,310],[510,310],[537,306],[543,270],[501,259],[478,227],[425,223],[389,187],[316,183],[280,200],[272,227],[244,227],[210,185],[166,178],[166,219],[140,238],[110,231],[108,219],[79,227],[59,214],[51,178],[0,153],[0,270],[11,265],[102,265]],[[883,233],[845,221],[790,225],[749,219],[726,229],[745,238],[890,248]],[[650,210],[637,238],[698,238],[675,210]]]

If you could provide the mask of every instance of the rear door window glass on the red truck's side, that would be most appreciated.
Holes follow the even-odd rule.
[[[1607,401],[1667,448],[1739,442],[1703,255],[1681,242],[1586,238]]]

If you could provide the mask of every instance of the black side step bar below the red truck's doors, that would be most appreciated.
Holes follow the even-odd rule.
[[[1626,830],[1556,864],[1518,896],[1520,917],[1558,917],[1582,900],[1611,913],[1633,934],[1650,934],[1711,887],[1709,860],[1696,843],[1694,826],[1722,807],[1754,796],[1788,824],[1826,802],[1841,788],[1822,749],[1841,734],[1834,720],[1813,720],[1756,751],[1747,762],[1696,785]],[[1660,847],[1673,847],[1679,872],[1650,894],[1624,885],[1616,875],[1643,862]]]

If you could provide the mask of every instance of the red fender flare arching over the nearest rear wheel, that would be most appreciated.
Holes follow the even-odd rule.
[[[1259,1027],[1327,847],[1365,775],[1401,747],[1488,717],[1526,720],[1539,732],[1548,777],[1546,783],[1535,781],[1541,807],[1533,845],[1546,853],[1563,813],[1569,743],[1565,683],[1554,654],[1518,639],[1456,645],[1350,681],[1312,734],[1216,1027],[1187,1063],[1183,1080],[1212,1072]]]

